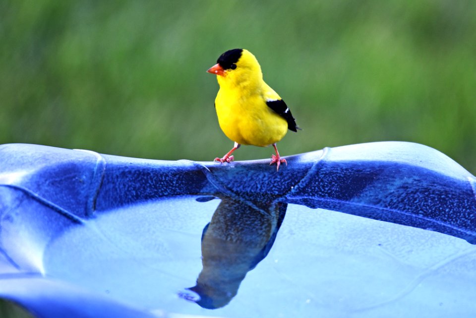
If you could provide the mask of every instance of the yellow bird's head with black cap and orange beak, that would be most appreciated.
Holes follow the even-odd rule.
[[[240,84],[242,82],[258,81],[263,78],[261,67],[251,52],[244,49],[233,49],[223,53],[217,64],[207,72],[216,74],[220,85]]]

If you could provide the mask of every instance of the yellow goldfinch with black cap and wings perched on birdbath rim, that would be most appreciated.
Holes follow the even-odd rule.
[[[225,135],[235,145],[223,158],[215,161],[231,162],[231,155],[241,145],[266,147],[273,145],[276,155],[271,164],[288,164],[276,147],[288,129],[300,129],[286,103],[263,80],[258,61],[249,51],[234,49],[223,53],[217,64],[207,72],[216,74],[220,89],[215,99],[218,122]]]

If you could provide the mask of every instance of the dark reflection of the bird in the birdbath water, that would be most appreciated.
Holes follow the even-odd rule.
[[[211,222],[203,229],[203,269],[196,285],[189,288],[200,296],[196,303],[203,308],[227,305],[237,294],[246,273],[266,257],[273,246],[287,204],[253,205],[222,198]]]

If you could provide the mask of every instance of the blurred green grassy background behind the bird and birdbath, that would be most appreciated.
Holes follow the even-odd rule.
[[[205,71],[237,47],[304,129],[282,155],[405,140],[476,173],[475,0],[2,0],[0,143],[213,160]]]

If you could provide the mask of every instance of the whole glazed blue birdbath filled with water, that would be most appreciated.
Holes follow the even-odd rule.
[[[39,318],[476,317],[476,178],[377,142],[220,164],[0,145],[0,297]]]

